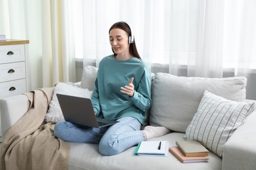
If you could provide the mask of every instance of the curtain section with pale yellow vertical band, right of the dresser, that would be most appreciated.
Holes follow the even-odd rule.
[[[68,0],[41,4],[43,86],[75,82],[75,5]]]

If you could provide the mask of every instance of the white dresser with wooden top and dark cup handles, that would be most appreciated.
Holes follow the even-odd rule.
[[[0,41],[0,99],[30,90],[28,43],[28,40]],[[0,126],[0,142],[1,136]]]

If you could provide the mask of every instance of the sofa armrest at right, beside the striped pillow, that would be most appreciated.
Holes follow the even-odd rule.
[[[255,169],[256,110],[228,139],[223,148],[223,170]]]

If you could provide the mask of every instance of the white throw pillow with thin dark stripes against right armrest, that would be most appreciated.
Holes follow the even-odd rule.
[[[230,101],[205,90],[184,138],[200,141],[211,152],[222,157],[224,144],[244,123],[253,106],[253,102]]]

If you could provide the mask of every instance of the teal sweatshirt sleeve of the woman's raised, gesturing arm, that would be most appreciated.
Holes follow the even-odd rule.
[[[130,97],[134,105],[142,111],[150,109],[151,106],[151,74],[148,69],[145,69],[142,78],[140,79],[139,86],[133,97]]]

